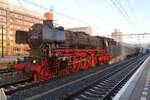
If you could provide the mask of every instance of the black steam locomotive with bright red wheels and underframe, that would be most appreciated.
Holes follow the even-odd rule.
[[[35,81],[50,80],[70,73],[108,63],[110,48],[116,45],[111,38],[91,36],[54,27],[52,20],[34,24],[29,31],[16,31],[17,44],[29,44],[30,57],[18,60],[16,71],[28,73]]]

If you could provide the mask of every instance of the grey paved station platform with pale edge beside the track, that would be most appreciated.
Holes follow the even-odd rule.
[[[150,100],[150,56],[121,88],[113,100]]]

